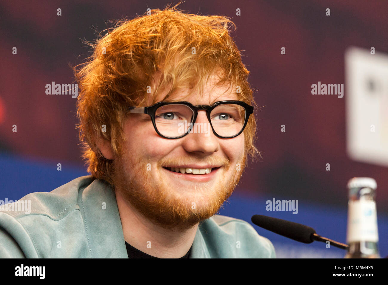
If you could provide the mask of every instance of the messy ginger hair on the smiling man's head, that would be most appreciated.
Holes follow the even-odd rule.
[[[113,28],[102,32],[106,32],[104,36],[101,33],[93,43],[86,42],[92,55],[73,67],[80,89],[77,128],[82,157],[88,172],[97,179],[113,184],[113,160],[102,155],[97,142],[109,141],[114,154],[121,156],[128,107],[145,106],[150,96],[152,104],[156,103],[161,88],[170,88],[163,99],[168,100],[174,90],[188,84],[203,90],[210,76],[217,73],[218,84],[229,83],[236,88],[237,100],[257,107],[247,81],[249,71],[229,34],[236,25],[224,16],[185,14],[176,6],[114,21]],[[157,72],[161,77],[150,95],[147,86]],[[245,155],[260,156],[255,147],[255,114],[249,118],[244,137]]]

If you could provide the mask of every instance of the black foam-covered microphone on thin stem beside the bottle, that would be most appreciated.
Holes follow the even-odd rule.
[[[274,233],[282,235],[283,237],[288,237],[305,244],[311,244],[314,242],[314,240],[319,242],[329,241],[330,245],[334,245],[335,247],[339,247],[341,249],[348,248],[347,244],[336,242],[330,238],[321,237],[315,232],[313,228],[302,224],[263,215],[254,215],[252,216],[251,221],[256,226],[260,226],[268,231],[273,231]]]

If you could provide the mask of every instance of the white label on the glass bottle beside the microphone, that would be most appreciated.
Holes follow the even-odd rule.
[[[346,243],[378,240],[376,202],[349,201]]]

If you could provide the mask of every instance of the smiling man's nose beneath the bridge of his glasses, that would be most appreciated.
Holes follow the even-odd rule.
[[[219,150],[218,137],[213,134],[206,111],[198,111],[198,116],[191,131],[184,136],[182,145],[187,152],[201,152],[209,155]]]

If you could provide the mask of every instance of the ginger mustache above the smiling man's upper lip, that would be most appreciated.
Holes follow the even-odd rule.
[[[198,158],[192,158],[189,157],[177,157],[177,158],[170,158],[170,157],[164,157],[158,162],[158,166],[160,167],[167,167],[170,165],[174,166],[184,166],[188,164],[210,164],[210,165],[218,165],[218,166],[225,166],[225,168],[230,167],[230,160],[226,157],[220,157],[220,156],[213,156],[213,157],[206,157],[201,160],[198,160]]]

